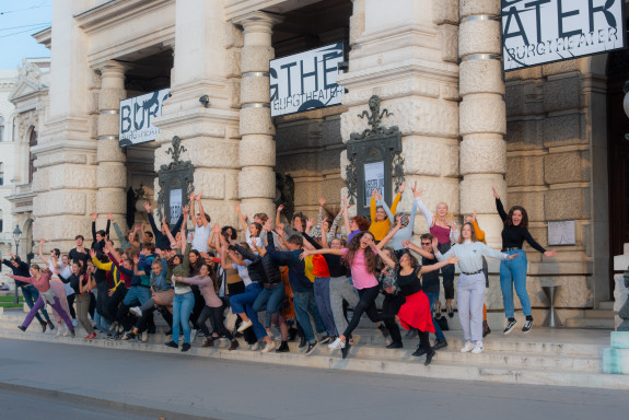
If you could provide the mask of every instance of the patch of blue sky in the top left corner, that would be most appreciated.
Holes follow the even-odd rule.
[[[23,58],[50,57],[32,35],[51,21],[53,0],[0,0],[0,70],[21,66]]]

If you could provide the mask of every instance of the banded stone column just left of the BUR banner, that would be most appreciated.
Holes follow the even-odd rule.
[[[127,211],[126,156],[119,145],[120,100],[125,91],[125,67],[117,61],[102,65],[101,92],[98,93],[98,149],[96,159],[96,211],[102,215],[114,213],[121,223]]]

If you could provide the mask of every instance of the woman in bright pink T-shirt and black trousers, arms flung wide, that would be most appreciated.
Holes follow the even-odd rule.
[[[353,308],[353,315],[349,325],[345,329],[343,334],[338,336],[338,338],[328,346],[329,349],[336,350],[341,349],[342,358],[347,358],[349,353],[349,343],[347,342],[347,337],[358,327],[360,317],[363,312],[370,315],[370,319],[380,319],[377,315],[374,302],[380,293],[380,284],[375,278],[375,255],[382,253],[382,248],[386,243],[396,234],[401,228],[398,221],[396,226],[377,245],[374,242],[374,237],[371,232],[361,232],[357,234],[347,248],[335,249],[335,248],[324,248],[316,250],[304,250],[300,258],[305,258],[308,255],[315,254],[334,254],[341,255],[343,257],[345,265],[351,269],[351,280],[353,287],[358,289],[358,294],[360,301],[358,305]]]

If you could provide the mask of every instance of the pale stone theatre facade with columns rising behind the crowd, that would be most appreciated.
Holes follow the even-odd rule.
[[[276,173],[293,179],[295,209],[314,215],[318,197],[338,205],[347,194],[345,143],[366,128],[358,115],[377,95],[392,113],[383,124],[403,136],[404,176],[426,189],[429,207],[444,201],[455,218],[476,210],[494,247],[492,186],[528,210],[543,245],[549,221],[574,220],[575,245],[554,259],[528,254],[528,288],[543,308],[540,285],[562,284],[563,318],[595,308],[610,298],[610,255],[621,250],[610,248],[613,57],[503,73],[499,16],[499,0],[55,3],[53,27],[34,35],[53,54],[49,107],[32,148],[34,238],[68,248],[94,211],[123,223],[129,188],[156,197],[173,136],[217,222],[236,225],[236,203],[273,214]],[[349,49],[342,105],[271,118],[269,59],[333,42]],[[123,151],[119,101],[163,88],[171,97],[158,141]],[[405,196],[401,208],[410,202]],[[426,230],[418,217],[416,233]],[[498,310],[498,265],[491,271]]]

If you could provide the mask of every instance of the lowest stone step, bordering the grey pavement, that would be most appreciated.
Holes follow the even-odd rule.
[[[444,352],[439,352],[433,364],[423,365],[424,358],[412,358],[409,360],[388,359],[388,358],[363,358],[351,357],[341,359],[336,354],[327,354],[316,350],[311,357],[302,353],[275,353],[263,354],[259,351],[236,350],[228,351],[226,343],[210,349],[193,347],[188,354],[182,354],[177,350],[166,348],[163,345],[140,343],[128,341],[94,340],[91,342],[80,339],[58,338],[54,339],[51,335],[33,334],[21,331],[11,332],[4,329],[0,330],[0,336],[10,339],[24,339],[37,341],[50,341],[66,345],[78,345],[86,347],[116,348],[126,350],[151,351],[159,353],[176,353],[180,357],[188,354],[220,358],[228,360],[238,360],[243,362],[264,362],[278,363],[282,365],[299,365],[318,369],[341,369],[357,372],[385,373],[418,377],[435,378],[456,378],[467,381],[482,381],[505,384],[536,384],[536,385],[556,385],[556,386],[578,386],[595,387],[606,389],[627,389],[629,390],[629,376],[627,375],[607,375],[595,372],[574,372],[569,370],[555,369],[533,369],[533,368],[514,368],[514,366],[494,366],[485,364],[458,364],[447,360]]]

